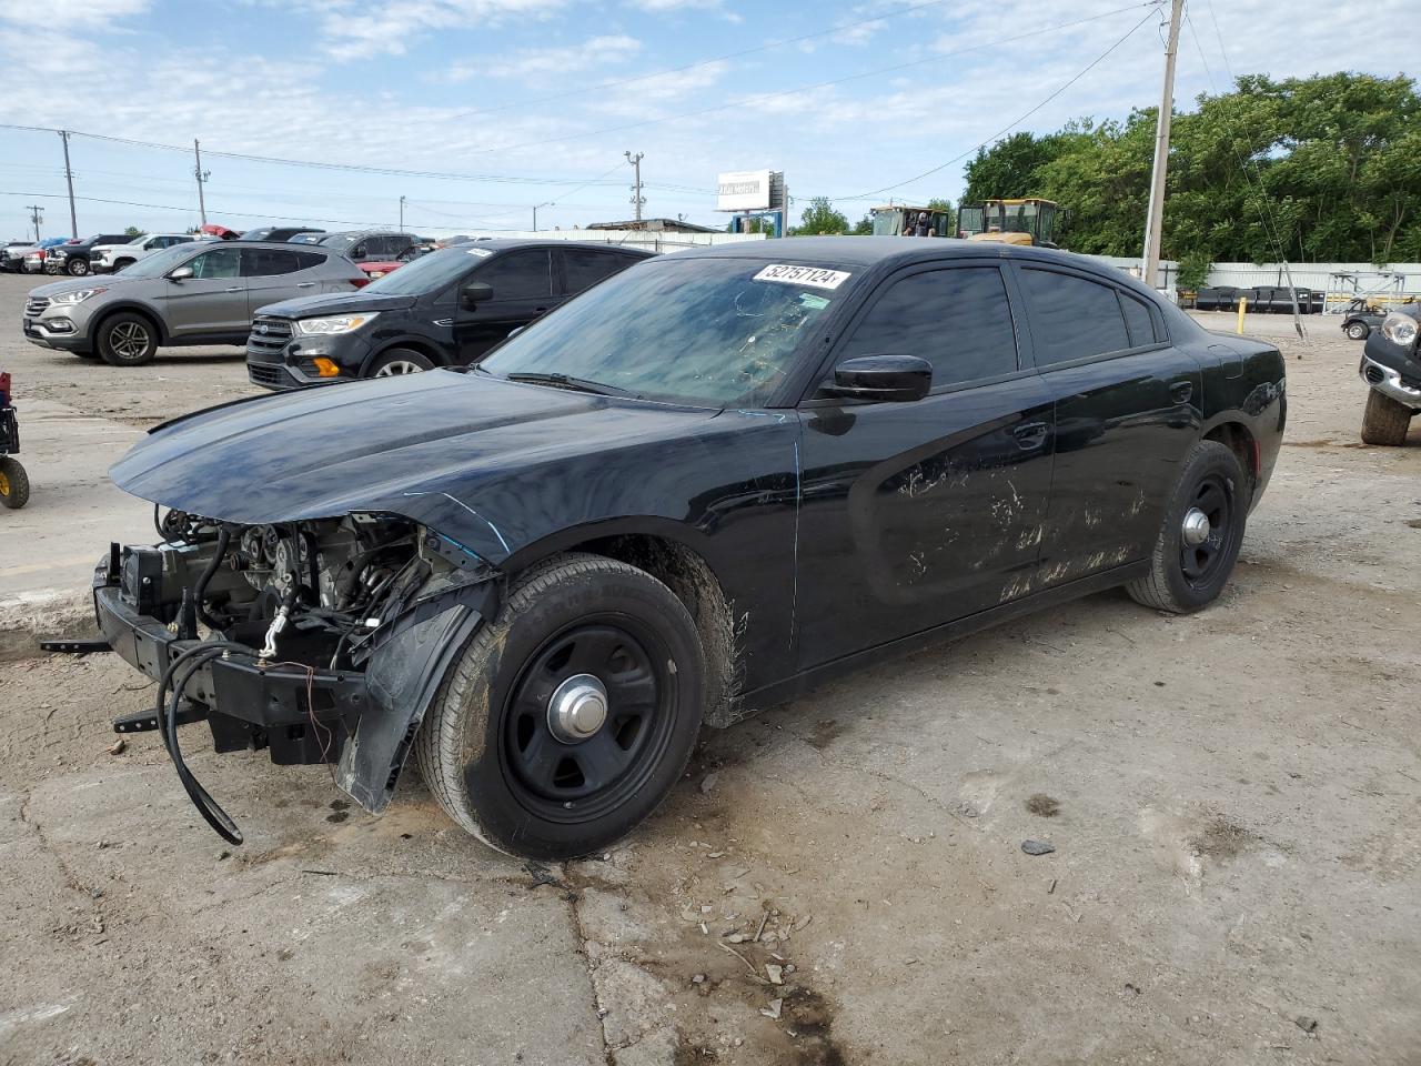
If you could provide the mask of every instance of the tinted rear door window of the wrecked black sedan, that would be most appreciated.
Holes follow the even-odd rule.
[[[1084,360],[1130,345],[1115,290],[1053,270],[1022,270],[1032,304],[1036,365]]]

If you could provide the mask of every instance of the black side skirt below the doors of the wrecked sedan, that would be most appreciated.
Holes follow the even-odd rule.
[[[753,692],[742,695],[740,705],[746,708],[746,711],[739,715],[736,721],[749,718],[767,706],[774,706],[794,699],[816,685],[833,681],[834,678],[851,674],[864,667],[875,665],[885,659],[911,655],[912,652],[929,648],[934,644],[962,640],[963,637],[971,637],[973,632],[990,628],[992,625],[1020,618],[1025,614],[1034,614],[1046,607],[1056,607],[1057,604],[1070,603],[1071,600],[1079,600],[1084,596],[1103,593],[1107,588],[1115,588],[1117,586],[1123,586],[1137,577],[1144,577],[1147,573],[1150,573],[1148,560],[1125,563],[1124,566],[1111,567],[1110,570],[1101,570],[1098,574],[1080,577],[1074,581],[1067,581],[1066,584],[1054,586],[1040,593],[1033,593],[1032,596],[1025,596],[1020,600],[1013,600],[1012,603],[1002,604],[1000,607],[992,607],[986,611],[969,614],[966,618],[958,618],[956,621],[935,625],[931,630],[915,632],[911,637],[899,637],[895,641],[877,644],[872,648],[855,651],[853,655],[844,655],[843,658],[831,662],[811,667],[810,669],[800,671],[784,681],[774,681],[755,689]]]

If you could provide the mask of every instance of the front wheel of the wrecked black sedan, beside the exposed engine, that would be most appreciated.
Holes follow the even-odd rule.
[[[415,752],[463,829],[509,854],[573,858],[665,799],[703,701],[701,640],[666,586],[601,556],[557,556],[514,581],[449,669]]]

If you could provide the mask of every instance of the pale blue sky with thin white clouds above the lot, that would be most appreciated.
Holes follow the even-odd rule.
[[[1414,0],[1191,0],[1175,101],[1232,74],[1414,74]],[[1127,0],[0,0],[0,239],[303,222],[441,236],[723,226],[716,175],[791,215],[962,188],[1016,129],[1158,104],[1168,4]],[[1366,31],[1354,31],[1367,27]],[[14,129],[41,126],[48,129]],[[131,144],[139,142],[139,144]],[[261,156],[237,158],[237,156]],[[286,162],[273,162],[286,161]],[[365,169],[345,169],[365,168]],[[402,172],[402,173],[392,173]],[[926,175],[921,176],[919,175]]]

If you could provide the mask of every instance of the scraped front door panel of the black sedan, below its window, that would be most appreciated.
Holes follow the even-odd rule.
[[[801,669],[1027,590],[1054,436],[1037,377],[803,414]]]

